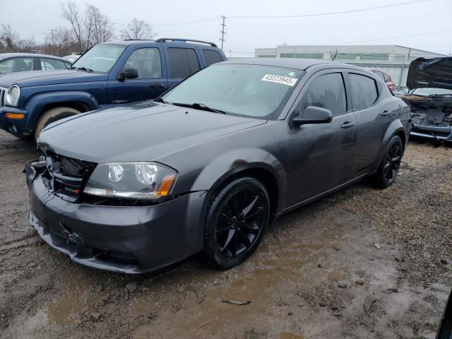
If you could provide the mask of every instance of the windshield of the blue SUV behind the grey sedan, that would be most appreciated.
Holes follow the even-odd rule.
[[[94,72],[108,73],[126,47],[121,44],[97,44],[78,58],[72,64],[72,68],[85,68]]]

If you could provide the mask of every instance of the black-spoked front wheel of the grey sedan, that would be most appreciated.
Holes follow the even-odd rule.
[[[270,215],[263,184],[251,177],[235,179],[213,196],[204,229],[204,253],[211,266],[231,268],[260,244]]]

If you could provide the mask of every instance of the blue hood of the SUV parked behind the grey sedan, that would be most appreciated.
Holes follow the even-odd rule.
[[[29,71],[4,74],[0,76],[0,87],[8,88],[11,85],[19,87],[58,85],[60,83],[83,83],[86,81],[107,80],[107,74],[88,73],[62,69],[58,71]]]

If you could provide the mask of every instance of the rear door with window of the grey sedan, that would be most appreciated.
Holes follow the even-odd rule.
[[[381,104],[383,84],[369,73],[350,70],[347,72],[353,111],[357,119],[357,139],[352,178],[369,172],[376,162],[381,141],[393,120],[391,107]]]

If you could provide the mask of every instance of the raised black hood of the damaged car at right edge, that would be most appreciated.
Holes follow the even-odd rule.
[[[407,87],[452,90],[452,57],[413,60],[408,69]]]

